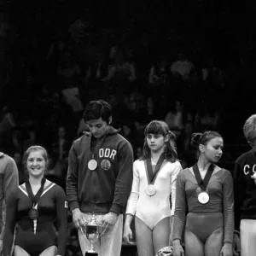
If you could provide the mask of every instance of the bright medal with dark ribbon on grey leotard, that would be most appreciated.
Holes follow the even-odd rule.
[[[214,166],[211,164],[207,170],[207,174],[204,179],[201,179],[201,174],[199,172],[197,164],[193,166],[193,171],[195,174],[196,182],[198,183],[198,188],[196,189],[197,199],[202,204],[205,205],[210,200],[210,196],[207,193],[207,185],[212,177],[212,172],[214,170]]]

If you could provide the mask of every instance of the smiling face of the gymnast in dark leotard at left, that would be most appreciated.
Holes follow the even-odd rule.
[[[32,151],[26,160],[26,169],[29,176],[42,177],[46,168],[43,152],[41,150]]]

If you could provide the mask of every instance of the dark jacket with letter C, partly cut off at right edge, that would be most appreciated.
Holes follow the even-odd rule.
[[[255,172],[256,152],[251,149],[236,160],[233,173],[236,230],[242,218],[256,219],[256,184],[251,177]]]

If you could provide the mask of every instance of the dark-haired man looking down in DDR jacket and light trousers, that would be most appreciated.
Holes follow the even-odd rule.
[[[81,232],[95,213],[102,223],[95,243],[99,256],[118,256],[122,246],[123,210],[131,192],[133,151],[131,144],[113,129],[108,102],[89,102],[84,121],[90,132],[73,142],[68,157],[67,200],[73,223],[79,229],[84,253],[90,249]]]

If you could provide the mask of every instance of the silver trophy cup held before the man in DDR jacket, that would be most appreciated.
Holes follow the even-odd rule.
[[[90,250],[86,251],[84,256],[98,256],[98,253],[94,249],[94,243],[99,239],[101,233],[102,224],[96,222],[94,214],[90,218],[90,222],[84,224],[81,227],[81,232],[90,241]]]

